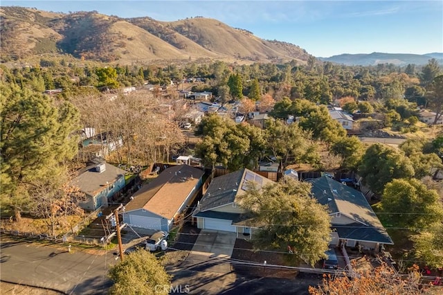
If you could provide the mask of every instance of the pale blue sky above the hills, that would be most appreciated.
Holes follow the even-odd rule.
[[[443,1],[1,1],[54,12],[97,10],[175,21],[210,17],[317,57],[443,52]]]

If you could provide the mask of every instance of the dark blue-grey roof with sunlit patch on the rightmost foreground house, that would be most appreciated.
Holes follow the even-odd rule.
[[[365,196],[330,177],[307,180],[312,184],[312,193],[318,202],[327,205],[332,214],[340,213],[354,220],[351,224],[337,224],[340,238],[393,244]]]

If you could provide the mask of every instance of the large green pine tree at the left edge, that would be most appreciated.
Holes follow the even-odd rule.
[[[1,87],[1,206],[19,218],[33,184],[58,177],[58,164],[75,155],[79,116],[69,102],[57,106],[42,93]]]

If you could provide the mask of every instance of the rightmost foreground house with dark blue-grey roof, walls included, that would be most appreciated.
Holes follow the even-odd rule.
[[[327,176],[306,181],[312,184],[313,197],[329,208],[334,229],[332,245],[378,251],[383,244],[394,244],[359,190]]]

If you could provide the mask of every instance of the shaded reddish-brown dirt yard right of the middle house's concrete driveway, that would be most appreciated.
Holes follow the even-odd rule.
[[[234,245],[232,259],[246,260],[264,263],[266,260],[267,265],[287,265],[294,266],[294,262],[291,263],[291,256],[289,254],[265,252],[265,251],[253,251],[251,242],[246,240],[237,239]],[[235,271],[239,274],[248,276],[264,276],[271,278],[295,278],[298,271],[295,269],[278,269],[273,267],[258,267],[258,266],[246,266],[246,265],[233,265]]]

